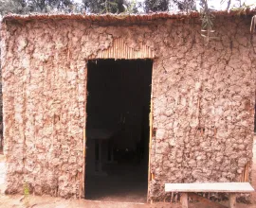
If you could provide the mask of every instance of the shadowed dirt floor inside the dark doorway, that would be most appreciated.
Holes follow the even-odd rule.
[[[141,165],[106,166],[107,176],[86,177],[86,199],[137,203],[147,201],[147,165],[142,172],[139,171],[142,169]]]

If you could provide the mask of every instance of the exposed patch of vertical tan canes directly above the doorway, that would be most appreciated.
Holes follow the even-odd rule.
[[[98,54],[89,57],[89,60],[94,59],[125,59],[125,60],[136,60],[136,59],[154,59],[155,51],[149,46],[140,43],[138,50],[128,47],[124,43],[123,39],[116,39],[113,45],[106,50],[100,50]]]

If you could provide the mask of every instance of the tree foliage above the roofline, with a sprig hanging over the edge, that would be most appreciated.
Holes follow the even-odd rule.
[[[200,0],[203,5],[203,27],[210,26],[213,19],[206,9],[208,0]],[[222,0],[227,4],[227,9],[237,10],[238,13],[245,12],[252,5],[241,5],[240,0]],[[168,11],[171,5],[182,11],[195,10],[195,0],[82,0],[76,3],[75,0],[0,0],[0,14],[30,12],[79,12],[79,13],[137,13],[138,8],[142,12]],[[255,5],[254,5],[255,6]],[[212,22],[212,21],[211,21]]]

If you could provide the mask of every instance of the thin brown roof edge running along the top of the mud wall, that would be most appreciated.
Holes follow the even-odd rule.
[[[252,15],[255,14],[255,9],[249,10],[242,14],[243,15]],[[238,15],[238,11],[213,11],[215,16],[235,16]],[[29,20],[84,20],[90,22],[110,22],[110,23],[139,23],[147,21],[155,21],[159,19],[192,19],[200,18],[200,13],[197,11],[192,11],[190,13],[179,12],[155,12],[149,14],[129,14],[129,15],[120,15],[120,14],[39,14],[33,13],[29,15],[18,15],[18,14],[9,14],[3,18],[3,22],[11,20],[19,21],[29,21]]]

